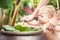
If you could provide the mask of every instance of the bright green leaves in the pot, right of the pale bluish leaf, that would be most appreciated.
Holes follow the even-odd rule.
[[[19,30],[19,31],[21,31],[21,32],[41,30],[40,28],[31,28],[31,27],[27,27],[27,26],[24,26],[24,25],[16,25],[16,26],[15,26],[15,29],[17,29],[17,30]]]

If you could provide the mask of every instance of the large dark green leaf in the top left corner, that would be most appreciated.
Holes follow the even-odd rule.
[[[12,0],[0,0],[0,8],[2,9],[13,9]]]

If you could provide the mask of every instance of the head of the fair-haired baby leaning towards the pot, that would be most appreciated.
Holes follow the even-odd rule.
[[[55,9],[53,6],[48,5],[40,8],[38,21],[40,24],[45,24],[49,22],[49,20],[56,14]]]

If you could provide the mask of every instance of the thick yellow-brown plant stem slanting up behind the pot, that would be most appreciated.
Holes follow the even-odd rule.
[[[16,6],[15,6],[15,9],[14,9],[14,12],[13,12],[13,17],[12,17],[11,21],[9,22],[9,25],[11,25],[11,26],[14,26],[14,24],[15,24],[19,6],[20,6],[20,0],[17,0]]]

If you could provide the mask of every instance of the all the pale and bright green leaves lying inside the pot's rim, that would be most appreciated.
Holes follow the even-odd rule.
[[[29,31],[38,31],[40,28],[30,28],[28,26],[24,25],[16,25],[14,27],[9,25],[3,25],[3,29],[6,31],[12,31],[12,32],[29,32]]]

